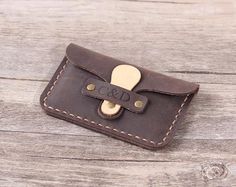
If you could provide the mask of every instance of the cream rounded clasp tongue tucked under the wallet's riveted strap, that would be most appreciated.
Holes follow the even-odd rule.
[[[140,71],[131,65],[118,65],[111,74],[111,84],[132,90],[140,81]],[[110,101],[104,100],[101,104],[101,112],[104,115],[113,116],[117,114],[121,106]]]

